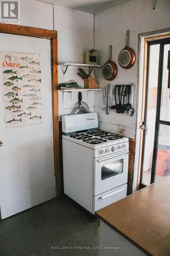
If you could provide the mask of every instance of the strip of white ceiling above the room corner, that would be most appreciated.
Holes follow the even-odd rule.
[[[97,13],[113,6],[125,3],[129,0],[37,0],[49,4],[55,4],[79,11]]]

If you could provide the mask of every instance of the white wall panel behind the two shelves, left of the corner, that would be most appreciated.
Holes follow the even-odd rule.
[[[58,63],[84,63],[85,50],[93,49],[93,18],[94,15],[54,5],[54,27],[58,33]],[[63,75],[58,67],[59,83],[74,79],[84,87],[84,81],[77,75],[78,68],[68,67]]]

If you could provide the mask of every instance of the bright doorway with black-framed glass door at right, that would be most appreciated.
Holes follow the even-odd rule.
[[[147,42],[139,188],[170,175],[169,50],[170,37]]]

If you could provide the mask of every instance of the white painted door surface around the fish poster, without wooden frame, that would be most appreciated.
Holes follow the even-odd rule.
[[[55,197],[50,40],[0,34],[1,51],[41,54],[42,123],[5,129],[0,75],[0,209],[5,219]],[[0,73],[1,74],[1,73]]]

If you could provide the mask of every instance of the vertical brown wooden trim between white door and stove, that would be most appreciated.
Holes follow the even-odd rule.
[[[60,138],[59,138],[59,115],[58,115],[58,60],[57,38],[51,39],[52,49],[52,92],[53,92],[53,132],[54,132],[54,157],[56,175],[56,194],[61,196],[61,163],[60,163]]]

